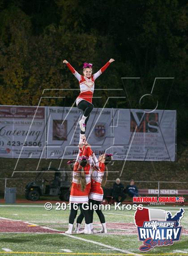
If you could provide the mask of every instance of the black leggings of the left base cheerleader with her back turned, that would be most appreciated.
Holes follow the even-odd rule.
[[[75,205],[75,208],[73,207],[73,205]],[[74,224],[74,220],[77,216],[78,206],[80,207],[80,211],[83,214],[83,218],[85,218],[85,223],[90,224],[90,211],[89,210],[84,210],[82,208],[82,203],[71,203],[70,204],[71,210],[70,210],[68,223]]]

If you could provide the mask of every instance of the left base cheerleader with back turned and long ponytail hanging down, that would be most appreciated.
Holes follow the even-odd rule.
[[[90,148],[83,146],[79,149],[77,161],[73,167],[73,180],[70,192],[70,215],[66,234],[72,234],[74,220],[77,216],[78,206],[85,218],[85,234],[91,234],[90,230],[90,211],[83,209],[83,204],[88,203],[88,196],[91,187],[91,157]]]

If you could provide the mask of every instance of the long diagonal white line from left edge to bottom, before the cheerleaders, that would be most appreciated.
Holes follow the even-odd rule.
[[[1,219],[3,220],[12,220],[14,221],[13,219],[8,219],[8,218],[4,218],[4,217],[0,217]],[[20,221],[20,220],[15,220],[15,221]],[[27,222],[28,224],[30,225],[36,225],[34,223],[29,223]],[[51,228],[45,228],[45,227],[41,227],[39,226],[40,228],[43,228],[43,229],[49,229],[49,230],[52,230],[52,231],[60,231],[60,230],[57,230],[57,229],[51,229]],[[58,234],[58,233],[57,233]],[[127,254],[133,254],[135,256],[143,256],[142,254],[137,254],[137,253],[133,253],[133,252],[129,252],[128,250],[122,250],[120,248],[116,248],[116,247],[113,247],[113,246],[110,246],[110,245],[107,245],[107,244],[104,244],[104,243],[99,243],[99,242],[95,242],[93,240],[90,240],[90,239],[85,239],[85,238],[80,238],[80,237],[76,237],[76,236],[73,236],[73,235],[68,235],[68,234],[65,234],[65,233],[59,233],[60,235],[64,235],[64,236],[67,236],[67,237],[70,237],[70,238],[74,238],[74,239],[77,239],[77,240],[80,240],[80,241],[84,241],[84,242],[87,242],[87,243],[93,243],[93,244],[96,244],[98,246],[102,246],[102,247],[106,247],[108,249],[112,249],[114,251],[117,251],[117,252],[123,252],[123,253],[127,253]]]

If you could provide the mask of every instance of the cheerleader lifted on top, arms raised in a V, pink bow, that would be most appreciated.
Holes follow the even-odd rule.
[[[77,78],[80,84],[80,94],[77,97],[76,104],[77,108],[83,111],[83,115],[81,120],[79,121],[80,125],[80,142],[81,144],[83,141],[86,140],[85,138],[85,130],[87,121],[90,117],[90,112],[94,108],[94,105],[92,104],[92,98],[94,93],[94,82],[95,79],[98,78],[106,69],[107,67],[114,61],[113,58],[111,58],[98,72],[93,72],[93,64],[85,62],[83,64],[83,76],[80,75],[66,59],[64,59],[63,63],[67,65],[69,70],[73,73],[73,75]]]

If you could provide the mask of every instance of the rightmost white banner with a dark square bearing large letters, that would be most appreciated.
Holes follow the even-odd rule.
[[[175,161],[176,111],[113,109],[115,159]]]

